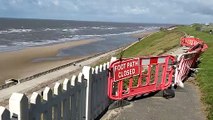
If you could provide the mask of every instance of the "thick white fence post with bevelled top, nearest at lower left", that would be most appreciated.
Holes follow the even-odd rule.
[[[28,98],[25,94],[13,93],[9,100],[11,118],[29,120]]]

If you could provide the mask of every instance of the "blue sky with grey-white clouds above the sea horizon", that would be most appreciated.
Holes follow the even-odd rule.
[[[213,22],[213,0],[0,0],[0,17],[208,23]]]

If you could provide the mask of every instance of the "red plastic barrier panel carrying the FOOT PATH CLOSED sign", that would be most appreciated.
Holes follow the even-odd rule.
[[[116,60],[109,67],[108,96],[113,100],[164,90],[171,86],[173,56]]]

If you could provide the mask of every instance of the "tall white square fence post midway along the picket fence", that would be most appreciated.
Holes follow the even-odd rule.
[[[84,66],[82,73],[84,74],[84,78],[87,80],[87,88],[86,88],[86,120],[91,119],[91,84],[92,84],[92,69],[89,66]]]

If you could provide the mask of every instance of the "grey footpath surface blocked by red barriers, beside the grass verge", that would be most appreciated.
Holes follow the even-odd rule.
[[[187,48],[180,47],[166,54],[178,55]],[[194,79],[191,79],[194,80]],[[188,80],[184,88],[175,91],[175,97],[165,99],[159,94],[130,101],[130,105],[109,110],[102,120],[205,120],[200,93],[197,86]]]

